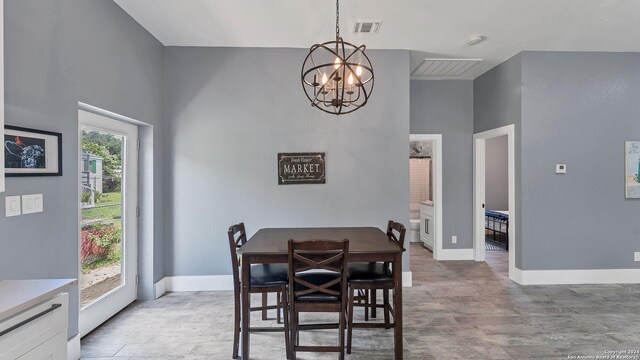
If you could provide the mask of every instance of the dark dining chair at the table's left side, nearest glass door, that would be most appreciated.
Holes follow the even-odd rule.
[[[231,264],[233,270],[233,297],[235,301],[235,313],[233,323],[233,358],[238,358],[238,348],[240,343],[240,332],[245,329],[240,328],[240,292],[242,283],[240,281],[240,258],[238,257],[238,248],[247,242],[247,233],[244,223],[229,226],[227,231],[229,237],[229,250],[231,251]],[[261,311],[262,319],[266,320],[266,311],[275,309],[277,312],[276,319],[280,323],[280,309],[284,314],[284,333],[285,347],[289,348],[289,318],[286,309],[286,288],[288,284],[287,265],[286,264],[252,264],[251,278],[249,284],[250,293],[262,294],[262,306],[250,308],[251,311]],[[268,305],[267,295],[276,293],[276,305]],[[272,331],[273,329],[252,328],[251,332]],[[288,358],[288,356],[287,356]]]

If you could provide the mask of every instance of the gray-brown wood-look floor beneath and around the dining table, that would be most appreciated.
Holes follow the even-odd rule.
[[[404,292],[406,359],[595,359],[607,351],[640,350],[640,285],[519,286],[507,278],[507,256],[487,251],[486,263],[436,262],[421,245],[411,244],[413,287]],[[259,296],[253,301],[259,303]],[[231,292],[169,293],[135,302],[82,339],[82,357],[229,359],[232,302]],[[257,312],[252,325],[276,326],[261,321]],[[301,336],[302,343],[335,341],[335,330]],[[393,331],[357,329],[347,359],[392,359],[392,347]],[[618,359],[640,359],[637,353],[627,355]],[[251,358],[284,359],[282,333],[252,334]],[[298,358],[337,356],[299,353]]]

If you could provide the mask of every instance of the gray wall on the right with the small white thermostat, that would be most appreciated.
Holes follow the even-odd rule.
[[[639,69],[640,53],[522,54],[523,269],[640,268],[640,201],[624,198]]]

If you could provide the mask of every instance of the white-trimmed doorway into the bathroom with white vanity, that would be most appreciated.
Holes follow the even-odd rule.
[[[443,253],[442,134],[410,134],[409,158],[409,236],[439,260]]]

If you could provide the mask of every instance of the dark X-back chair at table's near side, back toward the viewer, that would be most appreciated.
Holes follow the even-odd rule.
[[[289,240],[290,359],[296,352],[337,352],[344,359],[344,330],[347,308],[349,240]],[[303,312],[336,312],[338,346],[300,345],[300,317]],[[331,324],[325,328],[331,328]],[[333,324],[335,326],[335,324]],[[322,328],[321,325],[319,328]]]

